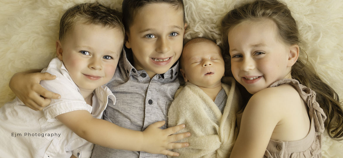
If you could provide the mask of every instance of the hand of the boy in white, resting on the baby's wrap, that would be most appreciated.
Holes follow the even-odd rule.
[[[167,129],[160,129],[165,124],[165,121],[158,121],[150,126],[148,126],[143,131],[143,146],[142,151],[152,153],[152,154],[163,154],[168,156],[179,156],[178,153],[172,152],[168,149],[177,149],[188,147],[189,144],[184,143],[174,143],[186,137],[189,137],[191,134],[189,132],[174,134],[175,132],[184,129],[185,124],[180,124],[174,127],[169,127]]]

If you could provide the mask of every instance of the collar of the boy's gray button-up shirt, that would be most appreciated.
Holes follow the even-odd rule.
[[[129,76],[140,76],[140,72],[137,71],[136,68],[133,67],[133,55],[132,50],[128,49],[126,47],[123,48],[121,60],[119,60],[119,64],[123,65],[123,68],[125,69],[125,73],[127,77]],[[144,71],[144,70],[143,70]],[[179,61],[177,61],[171,68],[164,74],[157,74],[158,79],[164,79],[164,80],[175,80],[178,77],[178,71],[179,71]],[[155,78],[155,77],[154,77]]]

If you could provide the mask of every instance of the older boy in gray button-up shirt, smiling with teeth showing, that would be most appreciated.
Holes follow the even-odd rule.
[[[123,0],[122,10],[126,48],[113,79],[107,84],[117,100],[116,105],[107,106],[104,119],[120,127],[143,131],[156,121],[168,121],[168,109],[180,85],[178,59],[187,26],[184,3],[182,0]],[[35,81],[28,81],[30,78]],[[48,98],[58,96],[35,83],[43,79],[53,78],[42,73],[18,73],[12,77],[10,88],[25,105],[40,109],[49,102]],[[23,81],[27,83],[21,84]],[[95,145],[92,157],[166,156]]]

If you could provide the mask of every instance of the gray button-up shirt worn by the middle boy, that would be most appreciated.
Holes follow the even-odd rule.
[[[168,109],[179,88],[178,62],[166,73],[157,74],[151,80],[145,70],[132,66],[131,49],[123,49],[116,73],[107,87],[116,96],[116,104],[108,104],[104,119],[118,126],[143,131],[150,124],[167,120]],[[167,124],[163,126],[165,129]],[[116,132],[116,131],[113,131]],[[92,158],[156,158],[165,155],[116,150],[99,145],[93,148]]]

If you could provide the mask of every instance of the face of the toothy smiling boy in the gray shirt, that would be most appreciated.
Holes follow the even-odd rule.
[[[133,66],[150,78],[166,73],[181,55],[185,27],[182,9],[168,3],[143,6],[126,30]]]

